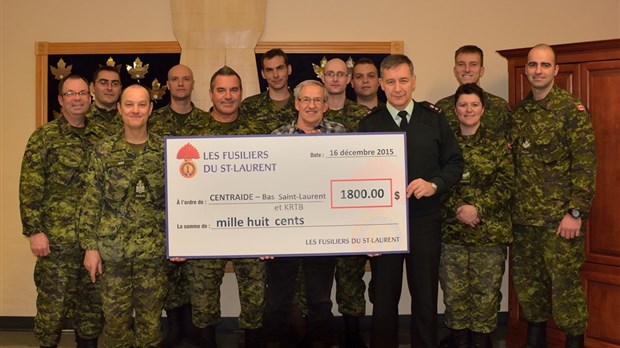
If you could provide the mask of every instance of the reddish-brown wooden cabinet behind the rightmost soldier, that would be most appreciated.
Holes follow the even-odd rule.
[[[554,45],[560,72],[556,84],[581,99],[594,126],[598,159],[596,196],[581,270],[588,301],[586,347],[620,348],[620,39]],[[523,67],[530,48],[498,51],[508,60],[511,106],[529,92]],[[512,284],[506,346],[525,340],[526,323]],[[547,344],[562,347],[564,334],[550,321]]]

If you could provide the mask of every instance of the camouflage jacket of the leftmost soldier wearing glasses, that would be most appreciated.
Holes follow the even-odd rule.
[[[104,131],[86,119],[82,132],[60,117],[32,133],[19,183],[24,235],[44,232],[52,247],[77,245],[75,217],[83,176],[93,144]]]

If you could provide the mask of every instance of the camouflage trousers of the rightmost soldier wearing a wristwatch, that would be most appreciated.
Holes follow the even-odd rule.
[[[565,239],[557,227],[514,225],[512,281],[525,318],[547,321],[569,335],[581,335],[588,312],[579,268],[585,261],[583,236]]]

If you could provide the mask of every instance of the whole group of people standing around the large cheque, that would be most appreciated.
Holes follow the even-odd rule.
[[[211,78],[213,106],[208,111],[192,103],[195,81],[185,65],[169,70],[170,103],[155,111],[144,87],[121,89],[113,67],[98,68],[90,82],[79,75],[64,77],[58,88],[62,115],[32,134],[20,177],[23,234],[37,257],[34,331],[40,346],[56,347],[69,318],[77,347],[97,347],[101,332],[106,347],[175,347],[185,339],[199,347],[216,347],[220,287],[229,260],[166,259],[164,136],[403,131],[410,181],[410,252],[370,255],[371,346],[398,345],[404,262],[412,296],[412,344],[437,346],[441,280],[448,294],[444,301],[451,334],[440,345],[489,347],[489,334],[497,325],[506,246],[514,230],[515,288],[530,322],[526,347],[544,347],[545,322],[551,315],[571,344],[577,344],[571,347],[583,347],[587,318],[576,272],[583,262],[581,219],[587,217],[594,189],[592,128],[581,103],[553,85],[553,71],[541,72],[555,69],[557,74],[553,50],[540,45],[530,55],[526,75],[532,94],[514,112],[504,100],[479,88],[484,67],[482,50],[476,46],[457,50],[454,73],[460,89],[458,96],[438,102],[441,109],[413,101],[415,74],[404,55],[388,56],[380,69],[366,58],[352,68],[331,59],[321,81],[306,80],[291,90],[288,57],[272,49],[261,59],[266,91],[243,100],[240,76],[224,66]],[[356,102],[345,96],[349,83]],[[387,103],[377,97],[380,85]],[[466,103],[459,107],[460,96],[476,93],[480,97],[472,105],[483,106],[481,127],[493,141],[472,148],[493,148],[492,155],[474,151],[484,155],[470,156],[460,139],[465,133],[461,134],[459,110],[470,109]],[[492,193],[479,200],[486,191]],[[471,195],[459,196],[463,192]],[[504,209],[509,203],[511,209]],[[464,237],[472,231],[479,236]],[[556,233],[563,238],[554,239]],[[488,237],[493,234],[501,236]],[[492,271],[485,268],[459,278],[462,269],[454,265],[474,263],[470,257],[480,251],[477,247],[491,247],[497,256],[489,261],[488,253],[481,254],[487,261],[481,267],[491,264]],[[571,262],[561,262],[569,255],[574,256]],[[344,323],[342,344],[366,347],[360,318],[366,311],[363,276],[368,259],[231,260],[244,346],[331,346],[335,279]],[[469,286],[479,283],[486,290],[475,297],[475,287]],[[458,289],[463,284],[467,289]],[[294,303],[303,313],[301,328],[294,325]],[[463,315],[472,309],[480,315]]]

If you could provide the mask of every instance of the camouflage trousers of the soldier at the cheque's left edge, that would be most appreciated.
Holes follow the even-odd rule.
[[[114,263],[104,260],[103,274],[98,281],[106,318],[105,347],[159,347],[168,280],[166,262],[165,259]]]

